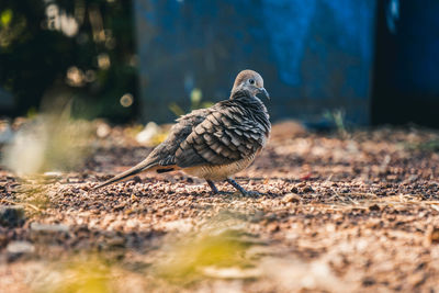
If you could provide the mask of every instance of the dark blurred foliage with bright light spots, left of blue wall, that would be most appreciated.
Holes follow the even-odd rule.
[[[43,98],[63,97],[74,100],[76,116],[134,116],[132,9],[126,0],[2,0],[0,88],[14,97],[9,114],[24,115],[40,109]],[[123,106],[127,93],[134,103]]]

